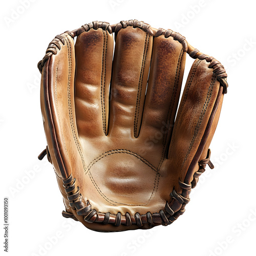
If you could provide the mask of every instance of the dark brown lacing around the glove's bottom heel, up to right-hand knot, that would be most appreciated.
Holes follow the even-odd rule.
[[[139,227],[143,224],[156,225],[162,224],[164,226],[172,224],[177,218],[182,215],[185,211],[186,204],[189,203],[189,194],[191,188],[194,188],[198,182],[199,176],[205,171],[206,165],[212,169],[214,166],[210,162],[210,150],[208,150],[207,156],[205,159],[199,162],[199,170],[194,174],[194,179],[191,184],[183,183],[179,180],[179,185],[183,190],[188,191],[188,197],[185,198],[182,194],[178,194],[175,189],[170,193],[170,202],[166,202],[165,208],[159,212],[151,213],[147,212],[144,215],[140,215],[138,212],[131,216],[129,212],[126,212],[125,215],[121,215],[120,212],[117,214],[111,214],[106,212],[97,212],[95,209],[92,209],[92,206],[89,201],[84,202],[82,195],[80,194],[80,189],[76,186],[76,179],[72,175],[66,180],[63,181],[63,187],[65,188],[67,198],[69,200],[69,205],[73,210],[76,210],[78,216],[83,216],[84,220],[88,223],[97,222],[102,224],[113,224],[115,226],[126,225],[131,226],[136,224]],[[76,217],[68,211],[62,211],[62,216],[65,218],[72,218],[77,220]]]

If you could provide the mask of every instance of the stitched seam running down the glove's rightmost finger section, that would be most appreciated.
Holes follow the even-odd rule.
[[[215,79],[214,79],[214,78],[215,78]],[[203,109],[202,109],[202,111],[201,111],[201,113],[200,113],[200,116],[199,116],[199,119],[198,119],[198,122],[197,122],[197,125],[196,125],[196,128],[195,128],[195,131],[194,131],[193,138],[192,138],[192,140],[191,140],[191,142],[190,142],[190,144],[189,144],[188,151],[187,151],[186,156],[185,156],[185,158],[184,158],[184,160],[183,160],[183,162],[182,162],[181,169],[183,168],[183,166],[184,166],[184,164],[185,164],[185,162],[186,162],[186,160],[187,160],[187,157],[189,156],[189,154],[190,154],[190,152],[191,152],[191,149],[192,149],[192,147],[193,147],[193,145],[194,145],[195,139],[196,139],[197,134],[198,134],[199,129],[200,129],[200,125],[201,125],[201,123],[202,123],[202,121],[203,121],[203,118],[204,118],[206,109],[207,109],[208,104],[209,104],[209,102],[210,102],[210,98],[211,98],[211,95],[212,95],[212,91],[213,91],[213,89],[214,89],[214,84],[215,84],[215,82],[216,82],[216,76],[215,76],[215,74],[212,74],[210,86],[209,86],[209,88],[208,88],[208,92],[207,92],[206,99],[205,99],[205,102],[204,102],[204,105],[203,105]]]

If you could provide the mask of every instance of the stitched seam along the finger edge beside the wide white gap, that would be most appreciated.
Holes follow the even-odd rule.
[[[181,55],[181,53],[182,53],[182,55]],[[175,73],[175,82],[174,82],[172,98],[170,100],[169,109],[168,109],[167,117],[166,117],[166,120],[165,120],[166,124],[168,122],[169,112],[170,112],[170,109],[171,109],[170,106],[172,105],[172,103],[174,104],[175,99],[176,99],[176,95],[177,95],[178,83],[179,83],[179,78],[180,78],[181,59],[182,59],[183,53],[184,53],[183,50],[181,50],[180,51],[180,55],[179,55],[179,60],[178,60],[178,63],[177,63],[176,73]],[[178,69],[179,69],[179,73],[178,73]],[[177,73],[178,73],[178,80],[177,80]],[[175,91],[175,96],[174,96],[174,91]],[[174,96],[174,101],[173,101],[173,96]],[[172,108],[172,111],[170,113],[170,117],[172,116],[172,113],[173,113],[173,108]],[[163,138],[163,150],[162,150],[161,159],[160,159],[159,164],[158,164],[158,170],[160,170],[160,168],[162,166],[163,158],[164,158],[164,153],[166,152],[167,134],[168,133],[166,133],[166,135],[164,135],[164,138]]]

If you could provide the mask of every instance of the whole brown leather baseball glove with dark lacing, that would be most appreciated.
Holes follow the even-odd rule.
[[[178,108],[187,53],[195,62]],[[53,164],[62,215],[98,231],[182,215],[214,167],[208,147],[228,86],[221,63],[134,19],[57,35],[38,68],[48,144],[38,158]]]

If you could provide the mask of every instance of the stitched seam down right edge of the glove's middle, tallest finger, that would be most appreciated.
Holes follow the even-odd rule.
[[[146,39],[147,39],[147,41],[146,41]],[[146,34],[145,42],[144,42],[144,52],[143,52],[143,58],[142,58],[142,65],[141,65],[141,71],[140,71],[140,80],[139,80],[138,93],[137,93],[135,117],[134,117],[134,137],[135,138],[137,137],[137,125],[138,125],[138,120],[139,120],[140,98],[141,98],[141,91],[142,91],[142,80],[143,80],[143,75],[144,75],[144,69],[145,69],[145,63],[146,63],[145,60],[146,60],[149,40],[150,40],[150,35]]]

